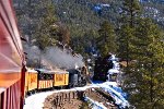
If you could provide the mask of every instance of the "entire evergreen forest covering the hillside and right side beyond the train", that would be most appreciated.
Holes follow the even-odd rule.
[[[137,109],[164,109],[163,0],[13,0],[22,36],[40,51],[126,62],[122,87]]]

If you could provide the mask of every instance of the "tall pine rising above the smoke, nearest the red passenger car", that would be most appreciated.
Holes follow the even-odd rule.
[[[57,44],[57,31],[55,8],[51,0],[40,0],[37,4],[37,26],[36,26],[36,45],[40,50],[44,50],[48,46],[55,46]]]

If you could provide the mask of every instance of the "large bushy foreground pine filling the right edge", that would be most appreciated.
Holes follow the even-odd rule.
[[[138,109],[162,109],[164,106],[164,41],[157,26],[149,19],[141,19],[131,40],[130,64],[125,89],[130,102]]]

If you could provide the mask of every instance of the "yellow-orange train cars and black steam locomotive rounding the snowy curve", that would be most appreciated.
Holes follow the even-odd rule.
[[[81,87],[85,85],[86,85],[86,78],[82,74],[82,70],[27,69],[25,73],[26,96],[30,96],[37,92]]]

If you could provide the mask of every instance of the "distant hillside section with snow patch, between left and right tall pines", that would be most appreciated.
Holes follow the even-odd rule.
[[[99,24],[105,20],[115,24],[118,19],[118,4],[119,2],[107,2],[107,0],[60,0],[55,2],[57,16],[69,26],[72,36],[83,36],[90,29],[97,31]]]

